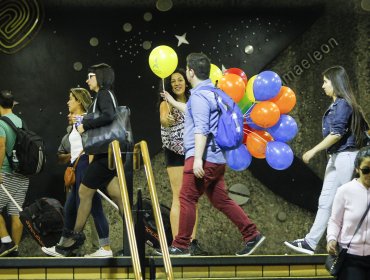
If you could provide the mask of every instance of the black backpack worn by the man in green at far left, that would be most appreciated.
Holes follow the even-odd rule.
[[[40,173],[45,165],[45,145],[42,138],[28,130],[22,121],[22,127],[16,127],[8,117],[1,117],[16,133],[12,155],[8,157],[12,169],[22,175]]]

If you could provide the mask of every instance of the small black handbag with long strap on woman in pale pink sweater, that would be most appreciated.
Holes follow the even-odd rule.
[[[365,213],[362,215],[361,220],[358,223],[357,228],[355,230],[355,233],[353,234],[353,236],[352,236],[351,240],[349,241],[348,245],[345,248],[342,248],[342,247],[338,246],[338,250],[337,250],[338,254],[337,255],[330,255],[329,254],[326,257],[325,268],[326,268],[327,271],[329,271],[330,275],[332,275],[332,276],[338,276],[339,275],[339,272],[342,269],[344,260],[345,260],[346,255],[347,255],[347,251],[348,251],[349,247],[351,246],[352,239],[356,235],[357,231],[360,229],[360,227],[362,225],[362,222],[364,221],[367,213],[369,212],[369,208],[370,208],[370,204],[367,207]]]

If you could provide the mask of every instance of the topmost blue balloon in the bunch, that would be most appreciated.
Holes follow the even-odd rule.
[[[254,80],[254,98],[257,101],[274,98],[279,93],[281,85],[281,79],[278,74],[273,71],[263,71]]]

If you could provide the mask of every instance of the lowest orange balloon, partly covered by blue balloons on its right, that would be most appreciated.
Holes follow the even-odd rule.
[[[255,158],[266,157],[267,142],[274,141],[274,138],[264,130],[255,130],[248,134],[247,149]]]

